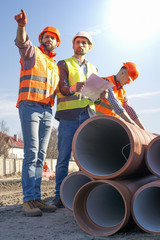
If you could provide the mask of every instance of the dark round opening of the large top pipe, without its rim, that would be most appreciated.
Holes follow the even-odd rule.
[[[120,170],[131,152],[127,131],[110,119],[88,122],[78,133],[74,147],[81,167],[100,177]]]

